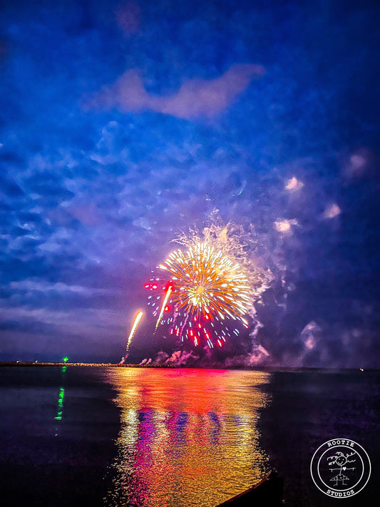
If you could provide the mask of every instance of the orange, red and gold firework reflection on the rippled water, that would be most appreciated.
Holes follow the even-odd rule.
[[[215,506],[262,478],[257,419],[269,374],[113,369],[121,409],[106,505]]]

